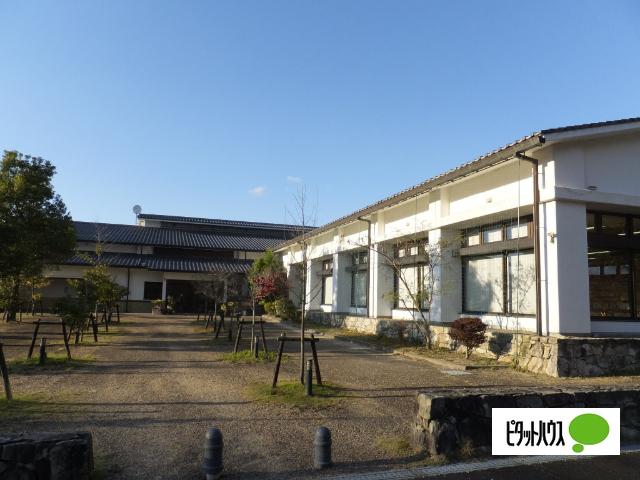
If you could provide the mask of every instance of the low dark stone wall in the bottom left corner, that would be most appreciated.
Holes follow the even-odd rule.
[[[91,434],[0,434],[0,478],[89,480],[93,471]]]

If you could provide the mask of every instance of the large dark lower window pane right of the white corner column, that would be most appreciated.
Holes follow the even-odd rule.
[[[592,317],[631,316],[629,254],[622,250],[589,249],[589,299]]]

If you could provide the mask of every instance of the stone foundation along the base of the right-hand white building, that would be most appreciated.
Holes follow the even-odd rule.
[[[311,311],[307,318],[331,327],[342,327],[370,335],[383,335],[406,342],[422,342],[423,335],[410,320],[367,318]],[[432,345],[454,349],[448,325],[431,325]],[[460,347],[462,351],[462,348]],[[487,330],[487,341],[474,352],[518,368],[553,377],[592,377],[640,373],[640,338],[590,338],[536,336],[507,330]]]

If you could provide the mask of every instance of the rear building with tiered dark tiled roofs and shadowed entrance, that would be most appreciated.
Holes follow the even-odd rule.
[[[253,260],[301,231],[292,225],[144,213],[137,225],[74,222],[74,227],[77,254],[45,272],[46,309],[74,294],[68,280],[91,268],[99,245],[101,261],[127,291],[122,312],[149,313],[153,300],[168,297],[180,313],[200,311],[205,300],[199,287],[211,282],[242,286]],[[242,290],[239,299],[248,296],[246,286]]]

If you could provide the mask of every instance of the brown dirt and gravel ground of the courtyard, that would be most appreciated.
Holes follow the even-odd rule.
[[[43,328],[54,342],[50,351],[62,353],[51,328]],[[270,349],[287,328],[267,324]],[[26,357],[32,329],[27,322],[0,324],[10,361]],[[292,342],[286,349],[285,381],[297,377],[296,347]],[[86,336],[72,346],[74,357],[94,361],[14,371],[14,396],[35,406],[5,411],[0,431],[87,430],[102,478],[188,479],[201,478],[204,435],[216,426],[224,435],[225,478],[307,478],[313,476],[312,442],[320,425],[332,432],[336,472],[420,462],[420,455],[388,445],[408,439],[421,389],[640,386],[638,377],[558,380],[511,369],[446,371],[322,338],[323,380],[344,387],[345,396],[327,408],[299,409],[251,400],[247,386],[270,383],[273,363],[224,361],[231,349],[194,317],[123,316],[109,334],[101,328],[98,344]]]

